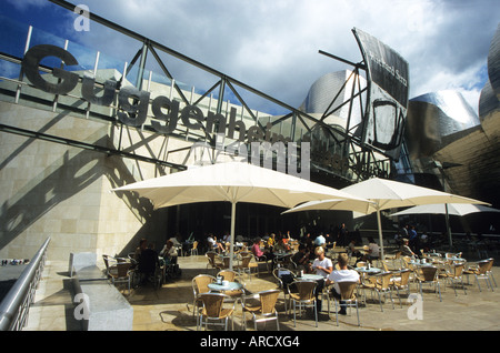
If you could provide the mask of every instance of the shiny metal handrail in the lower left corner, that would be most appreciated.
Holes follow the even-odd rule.
[[[43,271],[49,242],[50,238],[46,240],[0,303],[0,331],[20,331],[24,326]]]

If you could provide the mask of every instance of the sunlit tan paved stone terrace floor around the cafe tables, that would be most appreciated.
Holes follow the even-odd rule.
[[[181,279],[163,284],[160,289],[152,285],[128,291],[123,295],[133,306],[134,331],[184,331],[194,332],[197,323],[192,315],[192,286],[191,279],[200,273],[207,273],[207,260],[204,255],[179,258],[182,269]],[[496,280],[500,280],[500,270],[493,268]],[[394,296],[394,309],[390,300],[380,310],[378,300],[371,301],[371,294],[367,292],[368,305],[360,307],[361,326],[357,325],[356,310],[346,316],[339,316],[339,326],[336,325],[334,314],[330,319],[327,314],[327,303],[320,314],[318,327],[311,314],[298,316],[297,327],[293,326],[293,315],[284,313],[283,296],[278,303],[281,331],[498,331],[500,330],[500,289],[488,290],[486,282],[481,281],[482,292],[470,278],[467,285],[467,295],[458,289],[456,296],[450,284],[441,285],[442,302],[432,291],[424,286],[422,317],[409,319],[411,303],[407,297],[402,299],[402,307]],[[250,292],[277,288],[273,278],[268,273],[260,273],[251,280],[246,278],[246,285]],[[418,286],[412,285],[411,292],[417,293]],[[68,263],[49,261],[46,265],[42,280],[37,291],[36,301],[30,310],[26,331],[80,331],[80,322],[73,317],[74,305],[72,302],[72,288],[68,273]],[[377,296],[373,296],[376,299]],[[237,306],[238,307],[238,306]],[[413,313],[416,313],[413,311]],[[247,315],[249,319],[249,315]],[[237,309],[234,316],[234,330],[242,330],[241,309]],[[214,329],[220,331],[220,329]],[[266,326],[259,324],[259,331],[274,331],[276,324],[269,322]],[[253,325],[248,322],[247,331],[253,331]]]

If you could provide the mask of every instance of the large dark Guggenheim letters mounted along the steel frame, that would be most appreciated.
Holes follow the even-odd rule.
[[[64,62],[66,65],[77,65],[78,60],[67,50],[51,46],[40,44],[31,48],[24,54],[22,60],[22,70],[30,80],[30,82],[38,89],[53,94],[67,94],[72,91],[79,83],[79,74],[63,70],[61,68],[53,68],[52,75],[58,78],[57,83],[51,83],[43,79],[39,72],[40,62],[48,57],[56,57]],[[111,105],[117,94],[117,81],[107,80],[103,92],[100,95],[96,94],[94,90],[96,79],[83,77],[81,84],[81,97],[91,104]],[[131,103],[134,100],[134,103]],[[134,87],[121,88],[118,92],[119,109],[117,111],[118,120],[129,127],[139,128],[144,124],[148,109],[150,104],[150,93],[138,90]],[[208,133],[226,134],[229,139],[237,141],[257,142],[266,140],[268,142],[291,142],[290,138],[271,132],[271,124],[268,123],[266,129],[260,127],[250,127],[248,130],[242,121],[237,121],[237,110],[231,108],[229,121],[222,114],[208,112],[204,117],[203,112],[197,105],[187,104],[180,109],[179,102],[170,100],[167,97],[159,95],[151,102],[151,111],[153,120],[151,125],[158,133],[168,134],[176,130],[179,119],[182,124],[191,130],[199,130],[206,123],[206,131]],[[166,113],[164,111],[168,111]],[[214,131],[217,128],[217,131]],[[227,131],[226,131],[227,129]]]

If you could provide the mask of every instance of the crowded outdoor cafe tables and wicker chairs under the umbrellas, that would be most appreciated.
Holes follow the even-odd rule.
[[[298,245],[294,241],[290,243]],[[237,246],[232,268],[228,253],[208,251],[187,255],[182,256],[182,263],[198,264],[197,270],[184,271],[181,278],[172,280],[166,278],[163,265],[157,282],[147,284],[134,280],[137,274],[130,259],[117,261],[107,271],[110,281],[123,290],[123,295],[131,303],[133,292],[141,286],[157,293],[164,290],[169,295],[169,283],[186,283],[191,293],[181,300],[190,313],[191,325],[196,323],[196,330],[274,331],[283,329],[283,321],[289,330],[297,330],[298,324],[313,329],[319,323],[331,325],[332,330],[342,324],[362,327],[367,310],[372,312],[377,309],[380,315],[387,311],[403,312],[418,294],[423,303],[442,303],[442,293],[447,290],[452,291],[454,296],[468,297],[471,292],[481,295],[497,288],[492,275],[494,260],[491,258],[471,262],[462,253],[430,251],[421,252],[418,258],[393,252],[387,254],[384,260],[359,261],[347,248],[329,246],[326,254],[332,260],[333,270],[338,269],[338,254],[346,252],[349,269],[360,274],[358,283],[342,284],[342,297],[339,300],[331,295],[331,285],[320,283],[322,276],[314,271],[307,272],[293,262],[292,255],[297,249],[292,246],[272,261],[259,262],[247,246]],[[363,252],[366,246],[358,249]],[[118,275],[121,262],[129,265],[124,281],[122,275]],[[120,279],[126,283],[120,283]],[[317,310],[319,301],[322,303],[321,311]],[[341,305],[348,309],[347,315],[339,315]]]

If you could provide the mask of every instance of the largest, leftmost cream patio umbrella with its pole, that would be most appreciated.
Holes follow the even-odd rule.
[[[150,199],[154,209],[194,202],[230,202],[231,269],[238,202],[263,203],[289,209],[307,201],[362,200],[333,188],[242,162],[190,168],[187,171],[136,182],[112,191],[134,191],[139,196]]]

